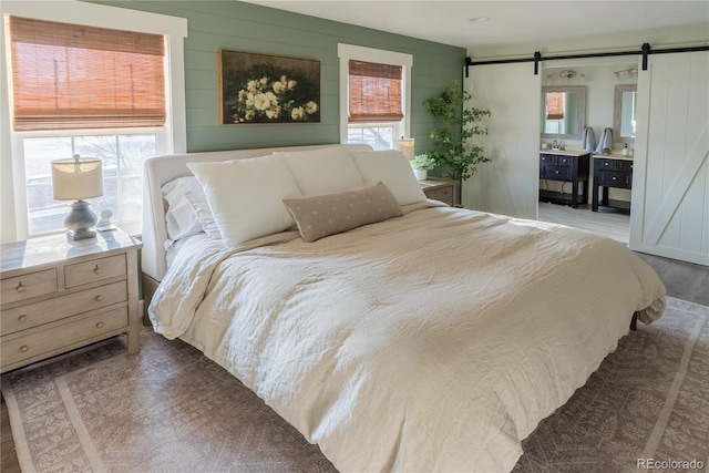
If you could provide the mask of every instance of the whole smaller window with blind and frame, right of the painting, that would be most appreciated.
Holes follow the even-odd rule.
[[[339,44],[338,53],[347,78],[340,81],[341,141],[395,148],[409,136],[412,56],[349,44]]]

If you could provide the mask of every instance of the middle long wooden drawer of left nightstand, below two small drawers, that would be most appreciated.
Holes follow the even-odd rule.
[[[41,302],[2,311],[2,335],[61,320],[70,316],[126,301],[125,281],[82,290]]]

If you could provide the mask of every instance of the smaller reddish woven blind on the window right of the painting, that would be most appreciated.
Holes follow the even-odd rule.
[[[400,65],[349,61],[349,123],[398,122],[401,106]]]

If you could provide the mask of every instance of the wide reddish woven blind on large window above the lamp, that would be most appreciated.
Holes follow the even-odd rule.
[[[10,17],[16,131],[165,124],[160,34]]]

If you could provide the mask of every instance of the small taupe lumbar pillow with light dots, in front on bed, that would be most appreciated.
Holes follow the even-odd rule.
[[[382,183],[359,191],[286,198],[284,204],[308,243],[401,215],[397,198]]]

